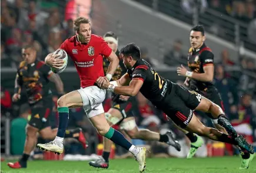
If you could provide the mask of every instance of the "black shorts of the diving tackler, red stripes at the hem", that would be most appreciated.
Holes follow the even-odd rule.
[[[179,127],[186,127],[191,121],[193,111],[200,104],[202,96],[195,91],[189,91],[183,86],[172,83],[171,92],[159,107]]]

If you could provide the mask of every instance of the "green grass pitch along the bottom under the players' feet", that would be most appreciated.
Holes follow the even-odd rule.
[[[90,172],[90,173],[129,173],[139,172],[138,164],[134,159],[114,159],[108,169],[95,169],[89,167],[88,161],[30,161],[26,169],[11,169],[1,162],[2,172],[31,172],[31,173],[61,173],[61,172]],[[222,158],[148,158],[147,168],[144,172],[191,172],[191,173],[236,173],[256,172],[256,159],[251,162],[247,170],[238,169],[241,160],[239,157]]]

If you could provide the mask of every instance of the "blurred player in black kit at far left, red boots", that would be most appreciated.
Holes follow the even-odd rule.
[[[55,56],[55,55],[53,55]],[[44,61],[36,59],[36,49],[32,45],[22,49],[24,61],[19,65],[15,79],[15,94],[13,101],[18,101],[21,97],[21,88],[25,88],[28,96],[28,103],[31,108],[31,119],[26,126],[26,142],[24,154],[18,162],[8,163],[11,168],[26,168],[31,151],[34,150],[37,141],[37,133],[44,139],[54,139],[57,129],[51,129],[49,116],[52,115],[52,95],[48,83],[54,82],[58,94],[64,94],[64,87],[61,78],[51,71]],[[84,134],[80,128],[66,132],[67,138],[78,139],[86,147]]]

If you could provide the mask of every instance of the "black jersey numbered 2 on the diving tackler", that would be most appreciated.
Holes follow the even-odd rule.
[[[155,106],[161,105],[172,88],[171,82],[162,78],[144,59],[138,59],[127,72],[132,80],[143,81],[139,91]]]

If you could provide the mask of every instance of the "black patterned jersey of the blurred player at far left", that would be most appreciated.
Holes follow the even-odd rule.
[[[51,95],[48,77],[52,74],[51,68],[44,61],[36,60],[32,64],[22,61],[19,64],[18,83],[26,89],[29,104],[36,104]]]

